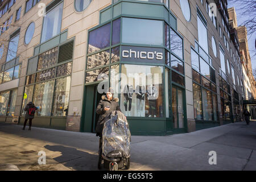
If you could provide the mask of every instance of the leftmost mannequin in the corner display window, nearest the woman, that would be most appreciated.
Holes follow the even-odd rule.
[[[137,95],[137,113],[138,113],[138,117],[144,117],[144,112],[143,112],[143,108],[144,108],[144,102],[145,102],[145,94],[146,94],[146,88],[145,86],[142,85],[137,85],[136,86],[136,90],[135,93]]]

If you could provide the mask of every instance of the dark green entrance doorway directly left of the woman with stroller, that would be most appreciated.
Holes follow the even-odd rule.
[[[103,94],[98,93],[98,85],[88,85],[86,86],[85,94],[85,116],[84,116],[84,131],[95,133],[97,126],[98,115],[96,113],[96,107],[98,102],[101,100]],[[103,88],[104,89],[104,88]]]

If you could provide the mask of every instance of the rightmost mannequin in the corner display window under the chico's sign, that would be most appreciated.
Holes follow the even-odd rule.
[[[148,104],[150,105],[148,117],[156,117],[156,99],[158,98],[158,89],[152,84],[147,90]]]

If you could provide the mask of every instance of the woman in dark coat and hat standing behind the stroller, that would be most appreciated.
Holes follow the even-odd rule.
[[[101,133],[103,130],[103,125],[104,123],[101,123],[106,119],[106,117],[112,113],[112,111],[119,110],[120,106],[118,104],[119,99],[118,98],[113,98],[113,92],[114,90],[112,88],[109,88],[108,92],[106,93],[106,96],[103,95],[101,97],[100,102],[98,103],[98,106],[96,108],[96,113],[100,114],[100,117],[98,118],[98,122],[96,125],[96,136],[101,137]]]

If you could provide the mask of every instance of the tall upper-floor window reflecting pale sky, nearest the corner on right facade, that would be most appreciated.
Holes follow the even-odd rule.
[[[207,36],[207,27],[203,23],[203,20],[197,15],[197,27],[198,27],[198,39],[199,45],[204,49],[205,52],[208,51],[208,36]]]

